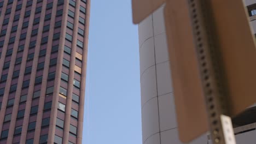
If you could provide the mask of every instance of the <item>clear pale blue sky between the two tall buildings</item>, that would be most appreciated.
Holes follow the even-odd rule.
[[[138,28],[131,0],[91,0],[84,144],[141,144]]]

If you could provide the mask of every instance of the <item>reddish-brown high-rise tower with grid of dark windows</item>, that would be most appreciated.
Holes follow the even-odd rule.
[[[90,0],[0,0],[0,143],[82,143]]]

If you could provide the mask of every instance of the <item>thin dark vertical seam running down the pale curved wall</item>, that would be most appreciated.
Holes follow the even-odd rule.
[[[154,41],[154,60],[155,60],[155,80],[156,80],[156,98],[158,101],[158,126],[159,126],[159,141],[161,144],[161,133],[160,133],[160,111],[159,111],[159,98],[158,98],[158,76],[157,76],[157,69],[156,69],[156,55],[155,55],[155,32],[154,32],[154,20],[153,20],[153,14],[152,16],[152,30],[153,30],[153,41]]]

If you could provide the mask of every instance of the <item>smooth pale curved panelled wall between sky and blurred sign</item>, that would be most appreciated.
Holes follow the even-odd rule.
[[[180,144],[163,8],[139,23],[143,144]],[[191,144],[207,143],[203,135]]]

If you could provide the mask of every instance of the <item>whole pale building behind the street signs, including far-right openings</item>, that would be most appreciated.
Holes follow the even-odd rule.
[[[256,0],[244,2],[252,33],[256,34]],[[178,136],[163,10],[164,5],[138,25],[143,144],[182,144]],[[255,143],[255,112],[256,107],[252,106],[232,119],[237,144]],[[189,143],[211,144],[212,141],[210,134],[206,133]]]

